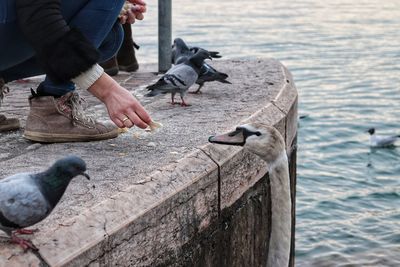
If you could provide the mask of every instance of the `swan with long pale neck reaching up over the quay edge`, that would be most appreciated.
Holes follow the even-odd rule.
[[[211,143],[243,146],[268,163],[271,181],[271,237],[268,267],[287,267],[291,242],[291,197],[289,165],[285,141],[275,128],[262,124],[245,124],[235,131],[211,136]]]

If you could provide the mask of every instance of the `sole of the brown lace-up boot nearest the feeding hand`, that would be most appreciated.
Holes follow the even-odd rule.
[[[24,137],[28,140],[40,143],[67,143],[67,142],[90,142],[112,139],[118,136],[118,129],[97,135],[70,135],[70,134],[48,134],[26,131]]]

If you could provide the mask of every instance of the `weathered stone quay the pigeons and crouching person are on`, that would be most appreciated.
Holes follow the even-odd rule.
[[[42,262],[51,266],[196,262],[197,266],[213,266],[221,260],[217,253],[221,244],[226,248],[232,245],[229,241],[238,242],[235,240],[252,247],[257,242],[268,244],[265,236],[257,242],[238,236],[260,223],[255,219],[244,222],[243,218],[255,213],[264,216],[264,209],[268,210],[265,163],[241,148],[206,143],[211,134],[241,122],[262,120],[284,134],[289,148],[296,136],[297,91],[290,74],[275,60],[212,64],[228,73],[233,84],[206,84],[203,94],[188,95],[192,106],[187,108],[171,106],[169,95],[143,98],[143,85],[156,79],[150,72],[156,70],[155,65],[118,77],[153,119],[164,124],[155,134],[131,129],[114,140],[49,145],[28,142],[20,131],[0,135],[0,177],[43,170],[56,158],[71,153],[86,160],[93,177],[90,183],[75,179],[51,216],[35,226],[40,232],[33,242],[40,248]],[[28,88],[38,81],[11,84],[1,112],[26,118]],[[89,111],[107,119],[101,103],[87,92],[82,95],[88,100]],[[254,205],[241,208],[254,202],[252,196],[261,196],[262,201],[257,202],[262,203],[261,210]],[[236,230],[224,230],[221,222],[228,222],[227,229],[237,226]],[[269,229],[268,223],[264,227]],[[215,251],[207,247],[207,240],[216,245]],[[5,248],[18,251],[13,245]],[[252,255],[265,256],[260,253]],[[240,263],[244,263],[243,258],[233,266]]]

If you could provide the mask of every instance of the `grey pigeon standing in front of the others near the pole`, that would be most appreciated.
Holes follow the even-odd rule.
[[[174,105],[175,94],[179,93],[182,99],[181,106],[189,106],[185,102],[184,96],[189,87],[196,82],[203,62],[207,58],[211,58],[208,51],[200,49],[196,54],[182,59],[181,63],[169,69],[155,84],[147,86],[146,88],[150,92],[145,96],[171,93],[171,103]]]

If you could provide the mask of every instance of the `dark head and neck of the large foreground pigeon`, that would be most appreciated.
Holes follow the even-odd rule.
[[[67,156],[57,160],[48,170],[36,174],[35,178],[43,195],[54,207],[74,177],[83,175],[90,179],[85,171],[86,163],[81,158]]]

